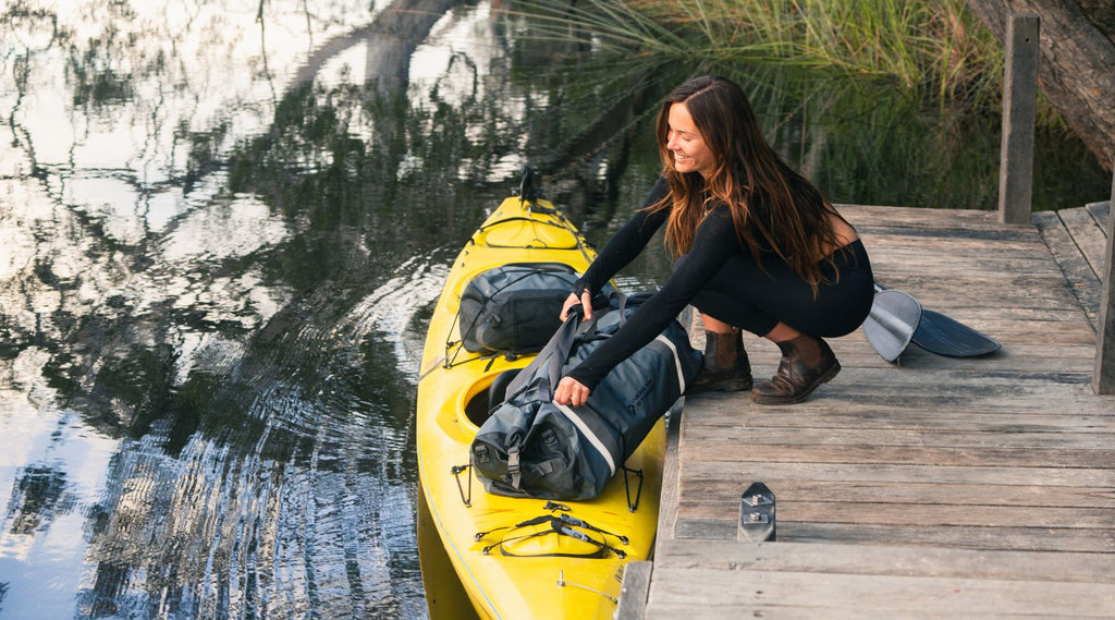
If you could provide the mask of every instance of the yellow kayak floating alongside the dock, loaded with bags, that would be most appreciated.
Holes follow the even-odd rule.
[[[588,502],[488,494],[467,466],[493,379],[526,366],[533,356],[507,359],[465,350],[456,320],[462,291],[474,277],[502,264],[560,262],[583,273],[592,258],[581,234],[551,203],[510,197],[453,263],[430,318],[418,380],[419,523],[437,532],[436,539],[427,532],[425,540],[419,532],[419,545],[439,540],[437,554],[452,565],[452,572],[444,566],[439,572],[423,558],[432,620],[610,620],[626,563],[650,558],[666,452],[662,420],[628,459],[629,471],[619,471]],[[562,527],[574,535],[556,532]],[[445,580],[454,574],[459,587],[450,588]],[[459,609],[466,597],[472,610]]]

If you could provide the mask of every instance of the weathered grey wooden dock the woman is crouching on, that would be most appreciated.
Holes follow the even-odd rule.
[[[843,371],[803,404],[688,398],[655,561],[631,565],[617,617],[1115,618],[1115,397],[1090,387],[1105,209],[1004,225],[841,207],[879,283],[1002,350],[911,346],[892,365],[856,331],[831,341]],[[745,342],[773,375],[777,349]],[[777,496],[776,542],[737,541],[757,481]]]

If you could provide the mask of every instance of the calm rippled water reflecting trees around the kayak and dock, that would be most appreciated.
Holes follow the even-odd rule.
[[[0,618],[425,617],[414,396],[446,264],[527,162],[605,239],[694,68],[532,41],[487,1],[2,11]],[[996,119],[720,69],[837,202],[995,205]],[[1038,206],[1106,200],[1077,143],[1039,143]]]

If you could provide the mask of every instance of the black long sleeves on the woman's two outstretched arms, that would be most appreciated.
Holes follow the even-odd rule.
[[[658,202],[668,191],[665,180],[660,178],[647,197],[646,205]],[[671,207],[656,213],[648,213],[644,209],[636,212],[608,240],[575,290],[589,290],[593,293],[599,291],[620,269],[639,255],[669,219],[670,211]],[[595,389],[612,368],[662,333],[728,259],[743,251],[745,250],[736,235],[728,206],[715,206],[698,226],[686,260],[675,265],[666,284],[644,301],[612,338],[570,370],[568,376],[589,389]]]

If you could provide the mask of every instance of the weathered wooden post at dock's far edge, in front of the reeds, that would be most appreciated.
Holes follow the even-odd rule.
[[[999,153],[999,221],[1005,224],[1030,223],[1040,25],[1032,13],[1011,14],[1007,23]]]

